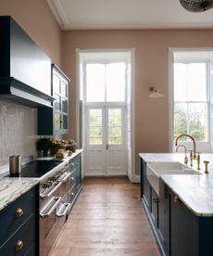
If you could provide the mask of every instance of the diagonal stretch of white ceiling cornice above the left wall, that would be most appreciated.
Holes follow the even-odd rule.
[[[51,11],[53,12],[57,23],[59,24],[62,30],[68,28],[68,19],[61,7],[60,3],[56,0],[46,0],[47,4],[50,6]]]

